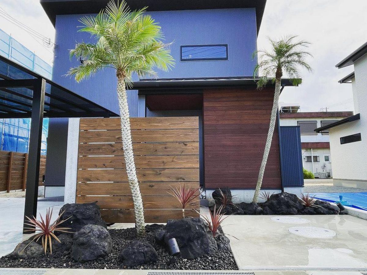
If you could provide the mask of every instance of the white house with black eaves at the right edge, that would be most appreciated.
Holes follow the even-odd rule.
[[[351,83],[355,115],[315,129],[329,131],[333,181],[336,186],[367,187],[367,43],[336,67],[354,66],[339,83]]]

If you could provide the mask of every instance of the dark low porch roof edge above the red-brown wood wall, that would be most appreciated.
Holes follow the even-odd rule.
[[[175,81],[174,81],[175,80]],[[256,87],[258,79],[254,78],[178,78],[178,79],[164,79],[164,80],[149,80],[149,81],[136,81],[133,83],[130,90],[142,90],[142,89],[193,89],[193,88],[217,88],[223,86],[231,87]],[[281,85],[293,86],[292,81],[289,78],[282,78]],[[269,84],[269,87],[273,87],[274,84]]]

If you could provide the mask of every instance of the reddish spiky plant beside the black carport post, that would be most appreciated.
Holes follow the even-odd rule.
[[[34,238],[32,239],[32,241],[30,241],[28,243],[28,245],[31,242],[33,242],[34,240],[36,240],[36,242],[37,242],[41,238],[41,240],[42,240],[42,246],[43,246],[43,249],[44,249],[45,254],[46,254],[48,245],[50,245],[50,253],[52,254],[51,236],[53,238],[55,238],[56,241],[60,242],[60,240],[54,234],[55,231],[69,232],[69,231],[66,231],[66,230],[71,229],[69,227],[58,227],[60,224],[62,224],[64,221],[70,219],[70,217],[71,217],[70,216],[70,217],[68,217],[65,220],[60,220],[61,215],[64,212],[62,212],[53,223],[51,223],[52,210],[54,210],[54,209],[52,208],[51,209],[51,212],[50,212],[50,208],[48,208],[48,210],[46,210],[45,220],[43,220],[43,217],[42,217],[41,214],[40,214],[41,220],[37,220],[35,217],[33,217],[33,219],[31,219],[30,217],[27,217],[26,216],[26,218],[29,220],[29,223],[24,223],[25,225],[32,226],[32,227],[25,227],[27,229],[25,231],[28,231],[28,232],[37,232],[38,231],[38,233],[36,233],[36,235],[34,236]],[[33,227],[35,227],[35,228],[33,228]],[[23,248],[23,250],[26,249],[26,247],[28,245],[26,245]]]

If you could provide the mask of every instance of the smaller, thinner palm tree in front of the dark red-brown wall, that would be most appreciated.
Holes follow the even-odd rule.
[[[296,37],[297,36],[288,36],[281,38],[280,40],[272,40],[271,38],[268,38],[272,45],[271,51],[255,51],[253,55],[255,57],[258,53],[260,54],[260,61],[255,66],[254,77],[258,74],[259,70],[262,70],[264,73],[264,76],[260,77],[257,81],[257,88],[264,88],[266,84],[268,84],[269,80],[271,80],[272,83],[275,83],[275,94],[270,115],[268,137],[266,138],[265,150],[261,161],[254,198],[252,199],[252,202],[255,203],[257,203],[259,198],[262,178],[264,177],[265,166],[268,161],[270,146],[272,144],[283,72],[288,75],[294,86],[299,85],[302,82],[300,78],[301,75],[298,70],[299,67],[306,69],[308,72],[312,72],[312,68],[305,61],[306,57],[312,55],[304,49],[305,47],[308,47],[310,43],[305,40],[294,41]]]

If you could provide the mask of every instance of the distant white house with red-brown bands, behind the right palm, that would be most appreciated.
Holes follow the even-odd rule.
[[[289,108],[283,109],[288,110]],[[299,126],[301,131],[303,167],[318,178],[333,177],[329,132],[313,131],[353,115],[353,112],[298,112],[280,113],[280,126]]]

